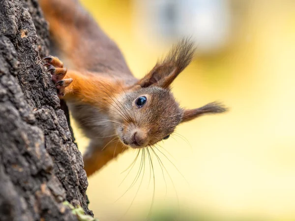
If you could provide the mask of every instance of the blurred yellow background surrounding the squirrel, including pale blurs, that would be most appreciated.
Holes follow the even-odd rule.
[[[91,176],[95,216],[294,221],[295,1],[81,1],[139,78],[177,39],[192,36],[198,51],[173,84],[177,100],[187,108],[215,100],[230,107],[178,126],[160,143],[165,168],[153,156],[155,182],[147,161],[143,181],[132,186],[140,167],[139,159],[124,172],[132,150]],[[74,129],[84,152],[88,140]]]

